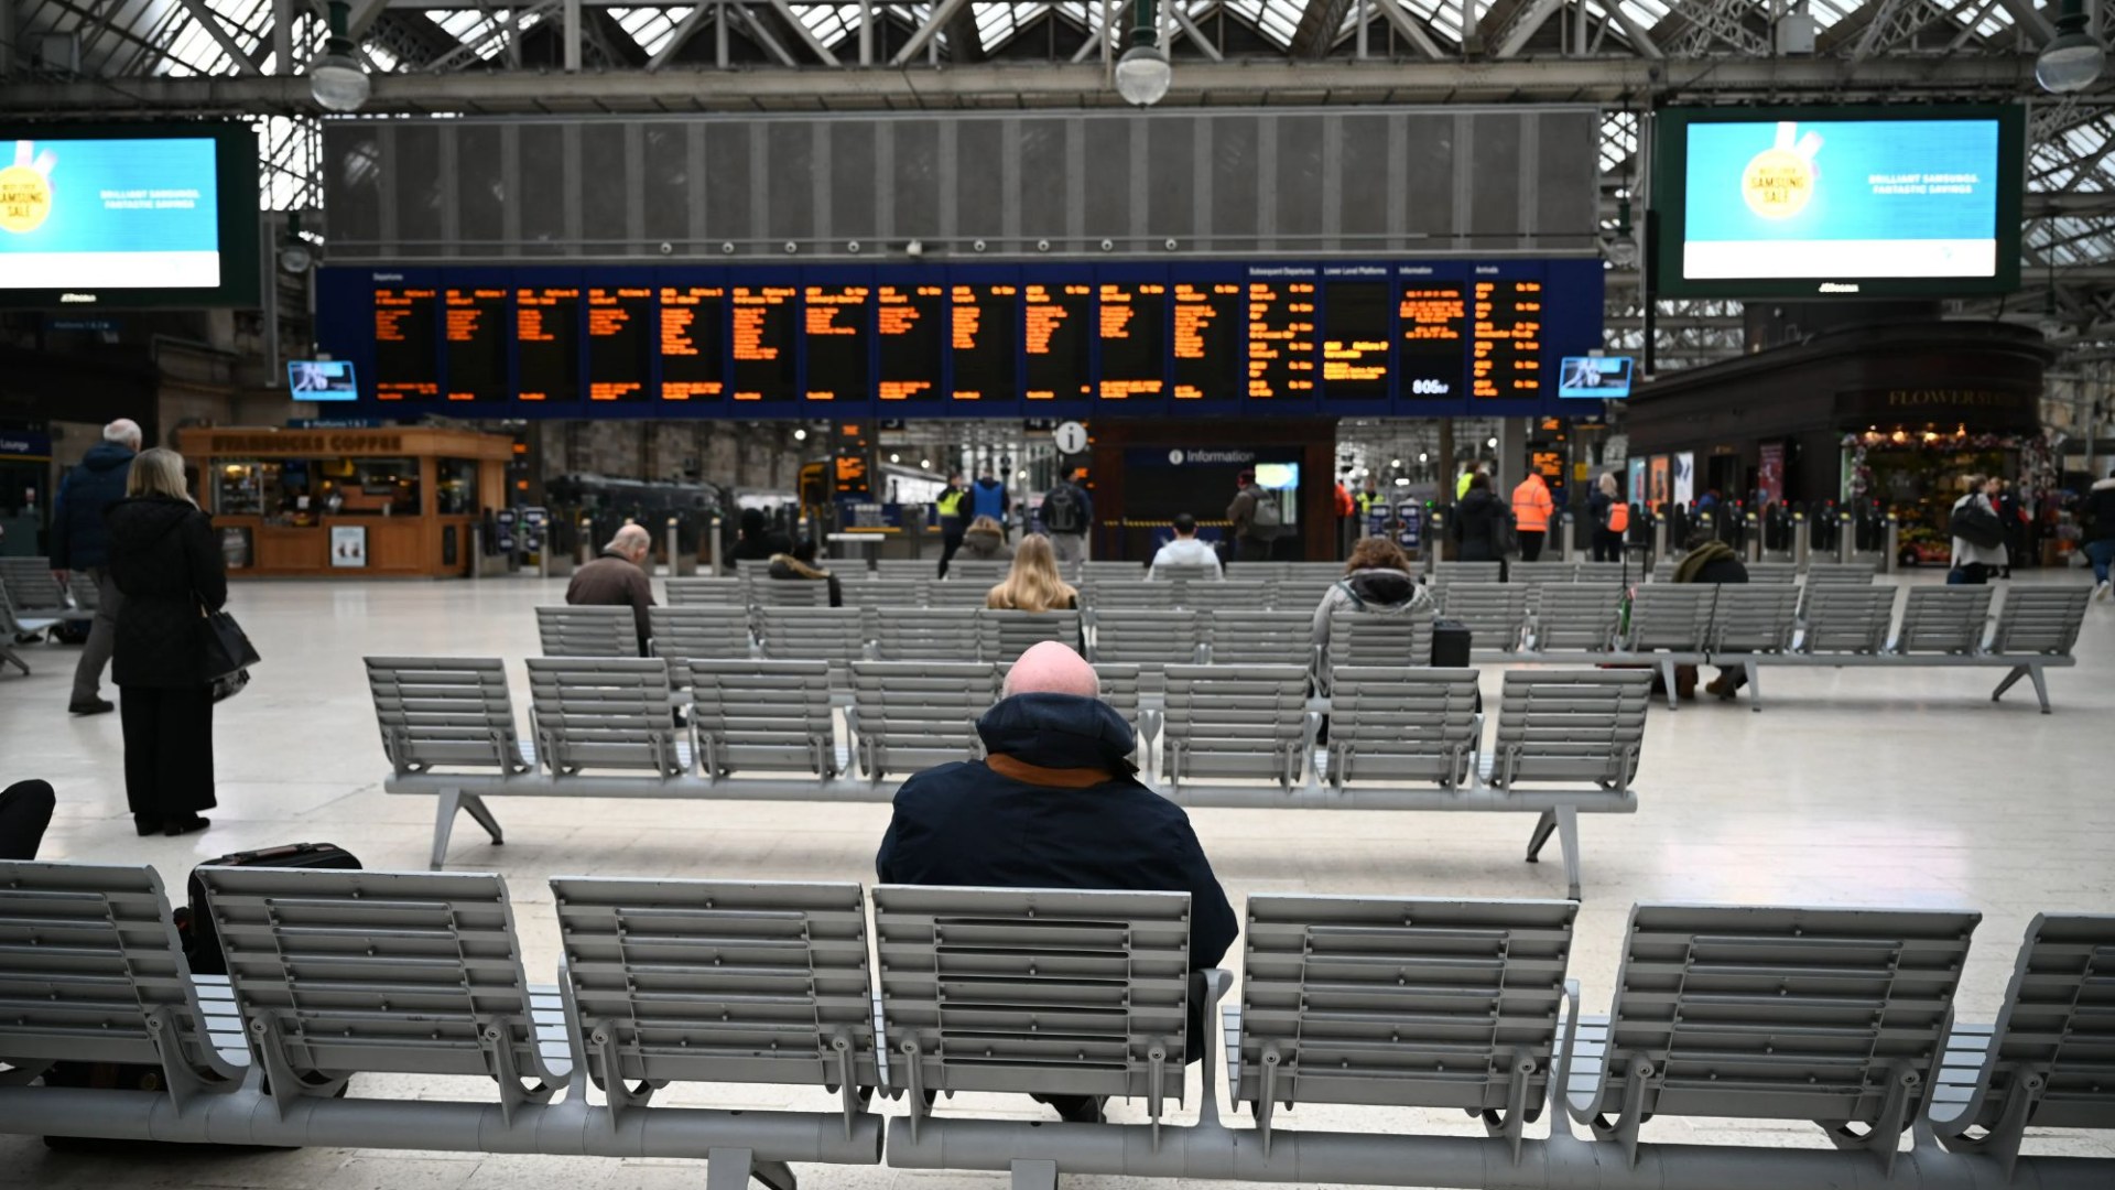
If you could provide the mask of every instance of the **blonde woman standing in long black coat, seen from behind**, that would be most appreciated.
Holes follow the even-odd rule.
[[[212,519],[184,491],[184,455],[142,451],[104,512],[125,593],[110,675],[125,728],[125,800],[140,834],[205,830],[214,807],[214,692],[205,612],[228,601]]]

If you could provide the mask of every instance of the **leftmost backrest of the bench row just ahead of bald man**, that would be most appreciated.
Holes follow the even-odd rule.
[[[497,656],[370,656],[383,756],[398,773],[525,773],[508,669]]]

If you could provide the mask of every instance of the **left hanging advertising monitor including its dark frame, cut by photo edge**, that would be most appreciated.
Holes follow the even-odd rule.
[[[256,307],[250,125],[0,125],[0,307]]]

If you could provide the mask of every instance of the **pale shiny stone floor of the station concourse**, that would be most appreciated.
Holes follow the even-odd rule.
[[[1931,582],[1937,574],[1912,580]],[[2043,572],[2024,582],[2083,582]],[[44,777],[59,811],[44,858],[150,862],[182,889],[186,870],[228,851],[330,841],[370,868],[421,868],[434,805],[381,792],[383,754],[364,654],[499,654],[537,650],[531,608],[558,601],[537,580],[243,582],[233,610],[264,663],[216,720],[220,809],[186,839],[137,839],[125,811],[116,716],[66,714],[74,650],[25,650],[34,678],[0,678],[0,779]],[[2094,603],[2079,667],[2052,671],[2054,716],[2022,684],[1990,703],[1988,669],[1764,671],[1768,709],[1717,703],[1645,728],[1641,809],[1582,819],[1584,908],[1571,974],[1586,1012],[1605,1012],[1633,902],[1967,906],[1984,915],[1963,982],[1961,1016],[1990,1021],[2026,921],[2039,910],[2115,910],[2115,603]],[[1500,669],[1487,667],[1487,699]],[[668,875],[871,881],[882,805],[647,800],[499,800],[505,847],[463,819],[450,864],[497,870],[512,889],[529,978],[554,978],[554,875]],[[1252,891],[1404,896],[1563,896],[1548,862],[1525,866],[1527,815],[1193,811],[1235,906]],[[1195,1076],[1193,1076],[1195,1086]],[[770,1088],[670,1088],[666,1101],[812,1105]],[[357,1095],[480,1095],[434,1080],[364,1078]],[[1195,1105],[1195,1097],[1191,1099]],[[1026,1101],[964,1097],[943,1110],[1043,1118]],[[901,1105],[886,1107],[901,1112]],[[1193,1107],[1191,1107],[1193,1110]],[[1142,1120],[1142,1105],[1112,1105]],[[1282,1126],[1476,1135],[1461,1114],[1305,1107]],[[1546,1124],[1529,1129],[1542,1135]],[[1645,1139],[1730,1139],[1823,1148],[1810,1124],[1713,1126],[1654,1120]],[[2037,1135],[2028,1152],[2115,1156],[2115,1139]],[[819,1190],[996,1186],[1003,1175],[806,1167]],[[1406,1173],[1406,1177],[1411,1177]],[[1119,1182],[1119,1179],[1074,1179]],[[302,1150],[275,1154],[49,1154],[34,1137],[0,1137],[4,1186],[256,1186],[317,1190],[499,1190],[514,1186],[700,1186],[696,1162]]]

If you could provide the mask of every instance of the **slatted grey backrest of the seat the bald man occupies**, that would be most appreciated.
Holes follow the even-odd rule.
[[[1180,1101],[1189,910],[1163,891],[876,887],[890,1080]]]

